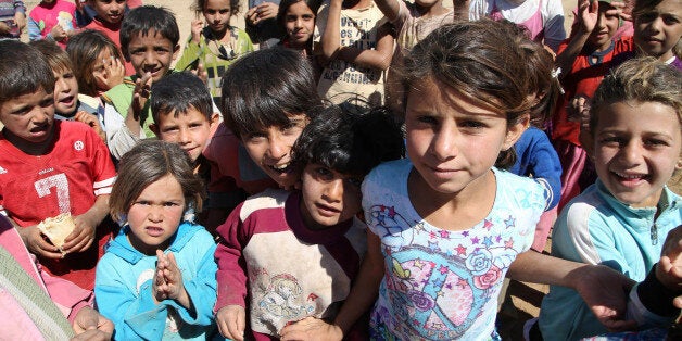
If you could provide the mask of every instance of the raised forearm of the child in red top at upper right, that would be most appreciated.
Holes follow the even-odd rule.
[[[567,75],[572,68],[576,58],[588,42],[588,38],[596,26],[598,17],[598,1],[578,0],[577,31],[571,34],[570,42],[566,49],[556,56],[555,64],[561,68],[561,75]],[[559,75],[559,77],[561,77],[561,75]]]

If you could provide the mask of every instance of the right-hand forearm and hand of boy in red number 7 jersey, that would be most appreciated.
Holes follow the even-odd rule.
[[[97,226],[109,214],[109,194],[98,195],[94,204],[86,213],[74,216],[76,228],[64,240],[62,250],[66,253],[88,250],[94,241]]]

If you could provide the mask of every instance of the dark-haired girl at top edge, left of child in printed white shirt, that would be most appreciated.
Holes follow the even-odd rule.
[[[304,56],[312,56],[315,17],[319,0],[282,0],[277,12],[277,22],[285,28],[280,45],[301,51]]]

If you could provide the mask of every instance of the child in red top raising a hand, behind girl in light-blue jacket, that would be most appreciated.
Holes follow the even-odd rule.
[[[608,71],[631,58],[634,49],[631,39],[612,39],[620,17],[610,0],[580,0],[579,13],[578,29],[561,43],[556,56],[565,90],[552,117],[552,140],[563,168],[559,211],[595,180],[592,162],[579,140],[581,113]]]

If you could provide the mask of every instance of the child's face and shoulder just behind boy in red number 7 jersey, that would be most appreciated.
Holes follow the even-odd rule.
[[[31,45],[45,55],[54,74],[54,118],[83,122],[94,129],[104,141],[104,130],[102,130],[97,115],[99,101],[89,103],[80,101],[78,81],[74,75],[68,54],[54,41],[38,40],[33,41]]]

